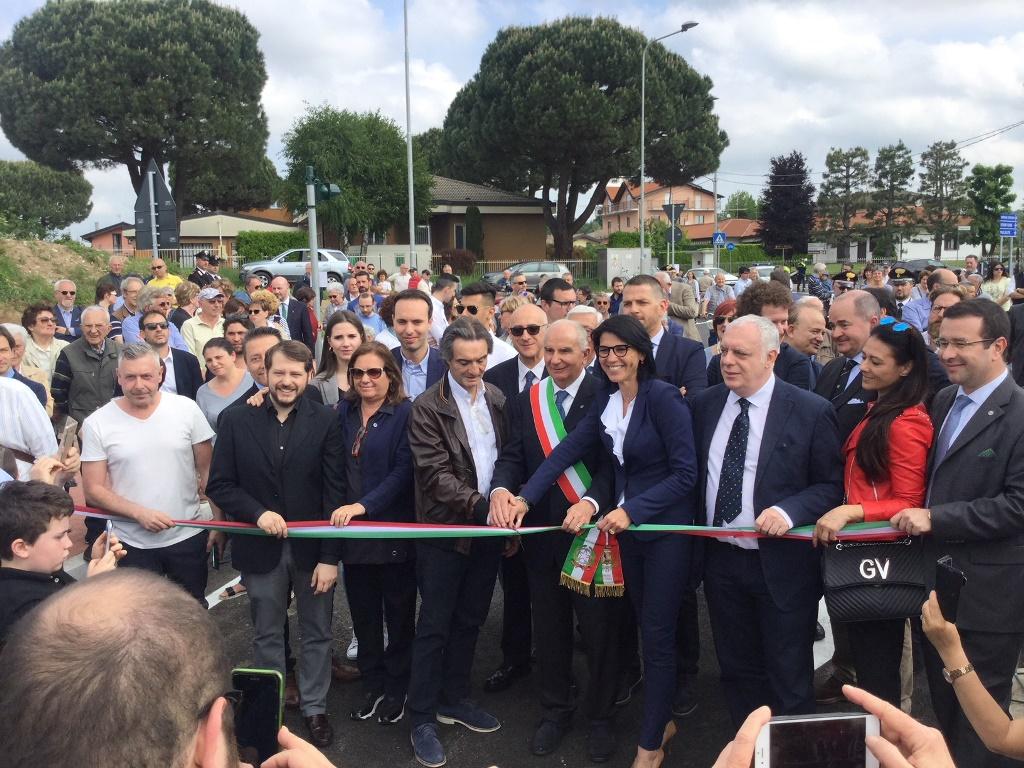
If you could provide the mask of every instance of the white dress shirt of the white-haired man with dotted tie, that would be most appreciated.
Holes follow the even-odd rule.
[[[743,462],[742,503],[739,515],[732,522],[723,523],[723,527],[753,527],[754,521],[761,516],[763,511],[754,508],[754,482],[758,473],[758,459],[761,456],[761,440],[765,433],[765,423],[768,421],[768,408],[774,391],[775,376],[772,375],[761,389],[746,398],[751,403],[746,412],[751,428],[746,436],[746,459]],[[718,500],[718,485],[722,475],[722,463],[725,461],[725,447],[729,442],[732,423],[739,414],[739,395],[735,392],[729,392],[729,396],[725,400],[725,408],[722,409],[722,416],[719,417],[718,426],[715,427],[715,434],[711,438],[711,449],[708,451],[708,486],[707,501],[705,502],[708,525],[715,524],[715,503]],[[790,527],[793,527],[793,520],[782,509],[779,507],[772,507],[772,509],[780,512]],[[724,539],[722,541],[742,549],[758,549],[757,539]]]

